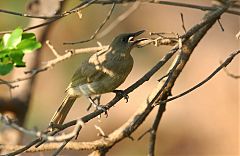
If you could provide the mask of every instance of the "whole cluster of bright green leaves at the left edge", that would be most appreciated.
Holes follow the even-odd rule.
[[[13,67],[25,67],[23,57],[41,47],[33,33],[23,33],[16,28],[11,34],[0,38],[0,75],[8,74]]]

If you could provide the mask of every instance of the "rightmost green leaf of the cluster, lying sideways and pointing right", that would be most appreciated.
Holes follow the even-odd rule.
[[[25,39],[17,45],[17,49],[22,50],[23,53],[30,53],[36,49],[41,48],[41,46],[41,43],[37,41]]]

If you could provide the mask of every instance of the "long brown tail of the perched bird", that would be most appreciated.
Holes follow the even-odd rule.
[[[53,117],[50,121],[50,125],[62,124],[76,99],[77,99],[77,97],[71,97],[71,96],[67,95],[63,99],[61,106],[58,108],[58,110],[53,115]]]

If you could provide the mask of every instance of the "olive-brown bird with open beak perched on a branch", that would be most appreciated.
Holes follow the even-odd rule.
[[[116,36],[107,50],[94,53],[83,61],[72,76],[66,89],[66,96],[53,115],[49,125],[63,124],[75,100],[81,96],[90,98],[92,95],[117,91],[133,68],[131,50],[142,41],[135,37],[144,30],[123,33]],[[116,92],[115,92],[116,93]]]

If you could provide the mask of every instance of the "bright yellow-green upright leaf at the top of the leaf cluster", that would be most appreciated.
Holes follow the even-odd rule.
[[[6,37],[6,39],[7,39],[6,48],[7,49],[15,48],[22,40],[22,33],[23,33],[23,30],[21,28],[17,28],[11,33],[9,38],[7,36]],[[6,35],[8,35],[8,34],[5,34],[4,36],[6,36]],[[3,36],[3,38],[4,38],[4,36]]]

